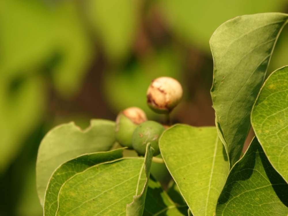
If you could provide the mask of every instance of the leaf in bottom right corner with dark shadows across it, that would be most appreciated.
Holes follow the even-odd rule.
[[[254,137],[231,169],[216,215],[287,215],[288,185],[269,163]]]

